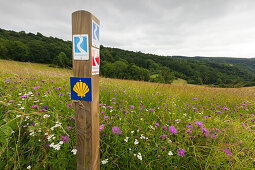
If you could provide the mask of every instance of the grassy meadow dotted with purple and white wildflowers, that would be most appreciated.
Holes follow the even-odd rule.
[[[68,69],[0,60],[0,169],[76,169]],[[101,169],[254,169],[255,87],[100,79]]]

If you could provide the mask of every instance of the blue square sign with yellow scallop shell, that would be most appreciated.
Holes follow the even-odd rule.
[[[71,99],[92,101],[91,78],[70,77]]]

